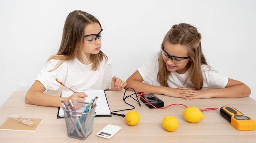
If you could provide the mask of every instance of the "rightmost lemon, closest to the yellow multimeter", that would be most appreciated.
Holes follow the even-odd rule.
[[[204,119],[202,112],[196,107],[188,107],[183,111],[184,118],[190,123],[197,123]]]

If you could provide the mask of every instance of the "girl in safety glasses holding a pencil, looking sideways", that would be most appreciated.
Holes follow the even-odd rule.
[[[117,90],[126,82],[112,77],[112,63],[101,51],[101,24],[97,18],[84,11],[72,11],[66,18],[58,53],[47,60],[47,65],[38,74],[27,91],[25,102],[40,106],[62,107],[63,100],[84,101],[84,92],[74,93],[68,98],[45,94],[44,91],[65,91],[67,88],[56,82],[56,78],[74,91]],[[111,87],[111,89],[110,89]]]

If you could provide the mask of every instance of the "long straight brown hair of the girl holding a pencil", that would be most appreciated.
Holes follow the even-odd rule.
[[[98,23],[101,27],[99,20],[93,15],[86,13],[84,11],[72,11],[66,18],[63,35],[61,39],[61,45],[58,50],[58,53],[52,55],[47,61],[51,59],[60,60],[58,64],[49,72],[57,69],[61,63],[67,60],[72,60],[76,58],[78,50],[83,52],[83,37],[84,37],[84,28],[88,24]],[[98,54],[91,54],[90,58],[92,60],[92,70],[96,70],[101,61],[104,58],[108,58],[102,51]],[[83,52],[83,60],[85,59],[85,54]]]

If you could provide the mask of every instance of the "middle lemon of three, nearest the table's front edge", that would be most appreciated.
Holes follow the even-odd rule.
[[[178,120],[173,116],[166,116],[162,120],[162,126],[169,132],[174,132],[179,127]]]

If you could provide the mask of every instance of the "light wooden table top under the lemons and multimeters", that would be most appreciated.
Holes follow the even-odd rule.
[[[60,92],[47,92],[59,96]],[[130,95],[131,91],[126,91]],[[131,98],[127,102],[135,106],[135,111],[140,114],[139,124],[129,126],[123,117],[95,117],[93,131],[85,140],[67,137],[65,119],[56,119],[58,108],[25,104],[25,91],[15,91],[0,108],[0,125],[7,120],[9,114],[19,114],[27,118],[43,118],[44,121],[35,132],[0,130],[1,143],[256,143],[256,130],[239,131],[220,115],[219,109],[204,111],[204,119],[198,123],[189,123],[183,117],[186,107],[181,105],[170,106],[165,109],[148,108],[143,102],[141,106]],[[131,108],[123,101],[124,91],[106,91],[108,104],[111,111]],[[135,96],[133,96],[135,98]],[[157,95],[164,106],[170,104],[184,104],[195,106],[199,109],[231,106],[241,113],[256,120],[256,101],[246,98],[211,98],[184,100]],[[128,111],[119,112],[126,114]],[[162,127],[162,119],[171,115],[179,121],[175,132],[168,132]],[[97,137],[96,133],[107,124],[121,126],[111,139]]]

